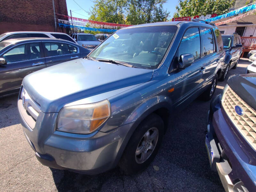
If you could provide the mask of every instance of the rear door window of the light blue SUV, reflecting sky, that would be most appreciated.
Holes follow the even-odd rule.
[[[210,55],[214,52],[212,30],[209,28],[201,28],[202,40],[203,40],[203,53],[204,56]]]

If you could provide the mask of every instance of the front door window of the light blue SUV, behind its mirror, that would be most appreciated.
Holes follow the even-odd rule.
[[[199,28],[189,28],[180,43],[178,49],[178,60],[182,54],[193,54],[194,59],[199,59],[201,57],[201,41]]]

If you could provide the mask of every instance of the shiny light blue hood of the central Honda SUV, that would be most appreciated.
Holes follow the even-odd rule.
[[[45,113],[59,112],[65,104],[132,85],[152,78],[153,70],[77,59],[26,76],[22,85]],[[128,88],[128,86],[130,86]],[[120,93],[113,93],[114,96]],[[105,98],[107,99],[107,98]]]

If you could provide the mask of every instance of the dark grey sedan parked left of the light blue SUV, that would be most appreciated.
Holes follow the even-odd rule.
[[[20,38],[0,42],[0,98],[19,92],[26,75],[85,57],[89,52],[78,44],[61,39]]]

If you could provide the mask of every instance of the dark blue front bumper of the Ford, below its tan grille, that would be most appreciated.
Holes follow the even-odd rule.
[[[207,135],[214,154],[211,168],[218,171],[225,191],[256,191],[256,153],[251,153],[252,148],[221,109],[220,95],[211,102],[207,122]]]

